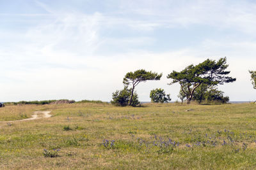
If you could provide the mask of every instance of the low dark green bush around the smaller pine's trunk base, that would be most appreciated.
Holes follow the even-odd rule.
[[[128,89],[128,87],[125,86],[123,90],[116,90],[116,92],[113,92],[112,96],[112,104],[114,104],[115,106],[127,106],[131,99],[131,89]],[[138,95],[136,94],[136,92],[134,92],[131,104],[129,105],[137,106],[138,104],[140,104],[140,102],[138,101]]]

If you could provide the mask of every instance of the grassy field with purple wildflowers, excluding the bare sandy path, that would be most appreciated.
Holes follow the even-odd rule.
[[[256,104],[0,108],[0,169],[256,169]]]

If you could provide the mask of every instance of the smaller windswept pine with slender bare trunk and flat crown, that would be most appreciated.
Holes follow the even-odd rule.
[[[129,105],[132,105],[132,98],[134,97],[134,89],[135,87],[142,81],[147,80],[160,80],[162,74],[152,73],[152,71],[145,71],[144,69],[139,69],[137,71],[129,72],[125,74],[124,77],[124,85],[132,85],[131,87],[131,98],[129,101]]]

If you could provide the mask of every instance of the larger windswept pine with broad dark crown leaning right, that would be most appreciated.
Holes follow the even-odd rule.
[[[180,72],[173,71],[168,74],[167,78],[172,79],[170,84],[180,83],[181,90],[186,94],[187,103],[189,104],[196,88],[202,83],[206,85],[222,85],[223,83],[236,81],[236,78],[225,76],[230,73],[230,71],[225,71],[227,67],[226,57],[221,58],[217,62],[207,59],[196,66],[191,64]]]

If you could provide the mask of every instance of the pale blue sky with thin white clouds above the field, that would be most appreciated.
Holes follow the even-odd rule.
[[[136,87],[140,101],[173,70],[227,57],[230,101],[255,101],[253,0],[0,0],[0,101],[110,101],[127,72],[163,73]]]

